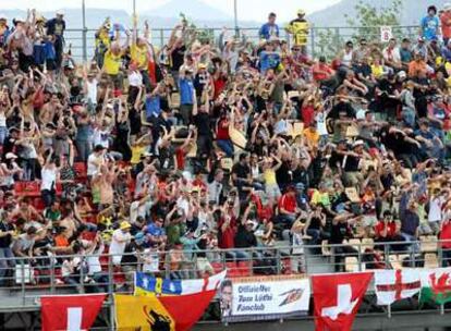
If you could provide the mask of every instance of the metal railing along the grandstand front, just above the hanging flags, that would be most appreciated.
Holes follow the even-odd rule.
[[[294,250],[293,250],[294,249]],[[434,236],[406,243],[351,240],[341,245],[253,247],[214,250],[144,250],[0,259],[0,310],[38,305],[42,294],[132,293],[134,271],[169,279],[196,279],[228,270],[228,278],[317,274],[370,269],[437,268],[451,262],[451,250]],[[3,299],[9,297],[8,301]]]

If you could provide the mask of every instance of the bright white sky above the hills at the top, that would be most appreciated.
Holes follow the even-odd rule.
[[[132,0],[85,0],[87,8],[111,8],[123,9],[129,12],[133,10]],[[186,0],[190,1],[190,0]],[[204,2],[222,10],[233,16],[233,0],[203,0]],[[304,9],[307,14],[327,8],[340,0],[236,0],[239,17],[246,21],[261,21],[271,11],[278,14],[281,21],[292,19],[296,11]],[[136,0],[138,11],[151,10],[169,0]],[[58,3],[58,4],[56,4]],[[36,8],[38,11],[52,11],[60,8],[81,8],[82,0],[0,0],[0,9]],[[283,9],[283,11],[281,10]]]

